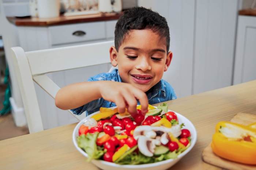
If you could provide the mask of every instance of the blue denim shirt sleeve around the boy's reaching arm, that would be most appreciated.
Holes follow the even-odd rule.
[[[88,81],[100,81],[100,80],[105,80],[105,78],[100,75],[97,75],[95,77],[90,77],[88,79]],[[81,107],[71,109],[71,111],[75,115],[81,115],[84,111],[86,111],[87,112],[86,116],[88,116],[88,114],[98,111],[99,108],[101,107],[101,105],[103,104],[103,101],[104,101],[103,98],[99,98],[99,99],[93,100]]]

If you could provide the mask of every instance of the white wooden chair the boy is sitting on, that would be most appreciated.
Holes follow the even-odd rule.
[[[33,81],[55,98],[60,87],[46,73],[109,63],[106,56],[113,45],[113,41],[108,41],[30,52],[21,47],[11,48],[30,133],[44,130]],[[69,112],[78,120],[85,117]]]

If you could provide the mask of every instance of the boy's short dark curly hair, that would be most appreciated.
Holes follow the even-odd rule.
[[[149,29],[156,32],[162,38],[166,38],[167,53],[170,46],[169,27],[166,19],[159,15],[159,13],[144,7],[133,7],[118,19],[115,29],[115,47],[118,51],[125,36],[130,30],[144,30]]]

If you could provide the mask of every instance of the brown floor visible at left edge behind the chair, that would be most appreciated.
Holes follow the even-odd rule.
[[[5,86],[0,85],[0,110],[3,108]],[[29,134],[27,127],[16,127],[11,113],[0,116],[0,140]]]

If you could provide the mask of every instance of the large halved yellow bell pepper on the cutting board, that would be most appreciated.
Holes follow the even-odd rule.
[[[256,129],[221,121],[215,127],[211,148],[219,157],[256,165]]]

